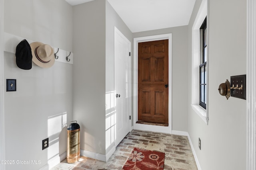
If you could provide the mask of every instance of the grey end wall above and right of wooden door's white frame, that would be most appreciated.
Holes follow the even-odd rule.
[[[172,33],[172,130],[188,131],[188,26],[133,33],[145,37]]]

